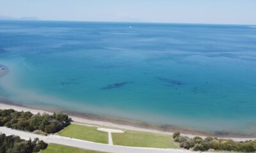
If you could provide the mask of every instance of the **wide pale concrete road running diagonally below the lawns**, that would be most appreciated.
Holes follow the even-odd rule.
[[[20,138],[32,140],[34,138],[40,138],[40,140],[44,140],[47,143],[56,143],[60,145],[68,145],[70,147],[78,147],[81,149],[89,149],[89,150],[97,150],[101,152],[113,152],[113,153],[184,153],[191,152],[188,150],[182,149],[154,149],[154,148],[143,148],[143,147],[124,147],[118,145],[108,145],[102,143],[88,142],[84,140],[78,140],[75,138],[67,138],[64,136],[58,135],[35,135],[33,133],[28,133],[24,131],[18,131],[15,129],[10,129],[6,127],[0,127],[0,133],[5,133],[6,135],[17,135]]]

